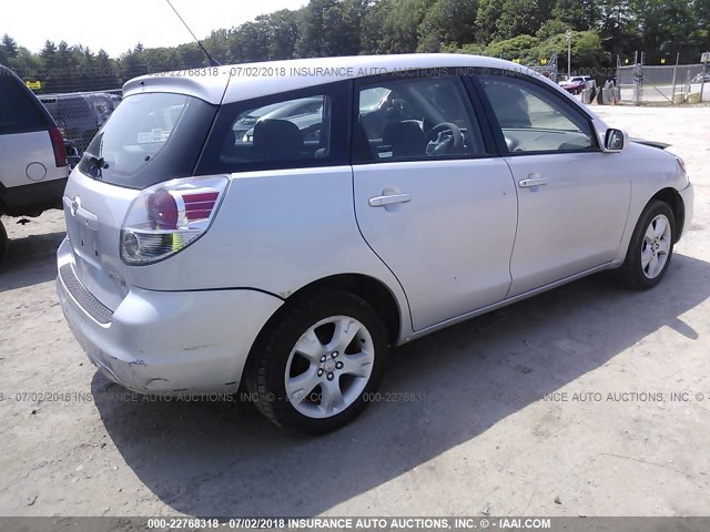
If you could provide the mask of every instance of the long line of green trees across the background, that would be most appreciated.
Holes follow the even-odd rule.
[[[710,0],[311,0],[203,40],[222,64],[407,52],[463,52],[544,64],[571,31],[572,70],[613,66],[646,52],[650,64],[698,62],[710,50]],[[632,61],[632,59],[631,59]],[[136,75],[206,66],[194,43],[136,44],[119,58],[48,40],[32,53],[6,34],[0,63],[43,92],[120,88]]]

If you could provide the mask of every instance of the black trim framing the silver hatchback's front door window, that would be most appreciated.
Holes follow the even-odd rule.
[[[591,136],[592,136],[592,142],[594,145],[590,149],[587,150],[565,150],[565,151],[560,151],[560,150],[544,150],[544,151],[536,151],[536,152],[510,152],[508,150],[508,145],[506,144],[505,137],[503,135],[503,129],[500,127],[500,124],[498,123],[498,119],[496,116],[495,111],[493,110],[493,105],[490,104],[490,100],[488,100],[488,96],[486,95],[485,89],[480,82],[480,80],[478,79],[478,75],[480,74],[486,74],[486,75],[499,75],[499,76],[504,76],[504,78],[519,78],[523,79],[525,81],[528,81],[535,85],[537,85],[540,90],[542,91],[547,91],[547,94],[549,94],[550,96],[552,96],[554,99],[556,99],[558,102],[562,103],[564,105],[566,105],[569,110],[571,110],[572,112],[577,113],[581,120],[584,120],[587,125],[589,126],[589,130],[591,131]],[[480,99],[480,101],[483,102],[483,106],[486,113],[486,122],[490,125],[491,127],[491,133],[494,135],[494,139],[496,141],[496,145],[498,147],[498,151],[501,155],[506,156],[506,157],[521,157],[521,156],[530,156],[530,155],[551,155],[551,154],[560,154],[560,153],[600,153],[602,152],[601,150],[601,145],[599,144],[599,137],[598,137],[598,133],[597,133],[597,129],[595,127],[594,121],[592,121],[592,116],[584,109],[579,108],[578,105],[575,105],[572,102],[570,102],[564,94],[558,93],[557,91],[550,89],[547,83],[545,83],[541,80],[537,80],[535,79],[535,76],[526,74],[524,72],[517,72],[517,71],[511,71],[511,70],[505,70],[505,69],[488,69],[488,68],[481,68],[481,66],[476,66],[473,69],[473,75],[468,76],[468,80],[471,84],[471,88],[475,90],[475,92],[477,93],[478,98]]]

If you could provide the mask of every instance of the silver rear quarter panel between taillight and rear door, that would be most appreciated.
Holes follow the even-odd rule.
[[[409,310],[392,272],[355,221],[351,166],[233,174],[210,231],[161,263],[129,268],[135,286],[155,290],[255,288],[288,298],[325,277],[361,274],[383,282]]]

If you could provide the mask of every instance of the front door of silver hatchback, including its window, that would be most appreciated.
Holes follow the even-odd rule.
[[[509,297],[612,260],[631,191],[619,154],[602,152],[589,116],[542,82],[517,73],[476,80],[518,188]]]

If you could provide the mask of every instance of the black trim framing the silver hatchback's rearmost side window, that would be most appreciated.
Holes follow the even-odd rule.
[[[329,167],[349,165],[351,144],[351,110],[349,94],[352,93],[352,80],[322,83],[293,91],[275,92],[250,100],[240,100],[232,103],[223,103],[216,113],[212,127],[207,134],[202,153],[197,158],[193,175],[207,175],[214,173],[237,174],[243,172],[266,172],[276,170],[298,170],[310,167]],[[298,100],[308,96],[326,96],[331,99],[331,140],[328,156],[323,158],[306,158],[303,161],[264,161],[240,163],[235,167],[224,167],[215,172],[212,161],[217,156],[223,139],[215,139],[221,129],[229,123],[234,123],[236,116],[250,109],[263,108],[272,103],[290,100]]]

